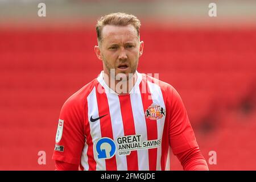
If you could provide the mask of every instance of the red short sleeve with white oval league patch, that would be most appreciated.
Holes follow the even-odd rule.
[[[55,139],[53,160],[80,164],[84,148],[84,117],[82,104],[70,97],[60,111],[59,123]]]

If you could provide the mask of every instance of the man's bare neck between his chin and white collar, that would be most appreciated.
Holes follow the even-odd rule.
[[[133,76],[129,77],[129,80],[123,80],[122,78],[119,79],[118,77],[112,77],[110,74],[107,74],[108,76],[105,76],[104,74],[104,81],[106,85],[109,86],[110,89],[112,89],[115,93],[119,95],[125,95],[129,94],[131,89],[133,89],[135,82],[137,81],[137,73],[135,72]]]

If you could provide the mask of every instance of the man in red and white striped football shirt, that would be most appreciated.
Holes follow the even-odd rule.
[[[170,146],[185,170],[208,170],[179,94],[137,72],[140,26],[125,13],[98,20],[103,71],[61,109],[56,170],[165,170]]]

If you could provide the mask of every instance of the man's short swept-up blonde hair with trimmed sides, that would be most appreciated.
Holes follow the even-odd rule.
[[[111,13],[111,14],[102,16],[97,21],[96,32],[97,32],[98,43],[101,42],[102,28],[107,24],[115,25],[115,26],[127,26],[128,24],[131,24],[137,30],[138,37],[139,37],[139,27],[141,27],[141,22],[136,16],[131,14],[126,14],[126,13],[120,13],[120,12]]]

